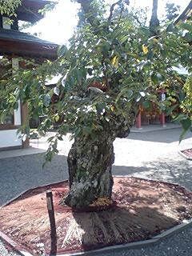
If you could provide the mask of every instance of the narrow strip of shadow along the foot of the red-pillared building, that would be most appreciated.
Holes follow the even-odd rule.
[[[148,142],[172,143],[178,142],[179,136],[182,134],[182,128],[170,130],[149,131],[145,133],[130,133],[127,139],[134,139]],[[191,138],[191,132],[186,133],[183,139]]]

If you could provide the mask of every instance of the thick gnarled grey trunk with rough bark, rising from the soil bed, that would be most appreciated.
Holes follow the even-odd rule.
[[[63,202],[74,208],[89,206],[97,198],[111,198],[114,136],[98,134],[76,138],[68,155],[70,192]]]

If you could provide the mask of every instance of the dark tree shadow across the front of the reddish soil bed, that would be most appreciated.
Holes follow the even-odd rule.
[[[74,244],[82,250],[94,250],[103,246],[113,246],[127,242],[145,240],[177,224],[150,207],[151,200],[142,198],[146,206],[132,210],[116,207],[90,214],[74,213],[75,226],[72,237]],[[67,248],[67,246],[66,246]]]

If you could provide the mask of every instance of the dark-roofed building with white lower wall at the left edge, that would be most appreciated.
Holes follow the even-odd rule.
[[[8,22],[10,18],[0,14],[0,58],[9,58],[14,69],[23,65],[18,61],[19,57],[34,58],[37,62],[57,58],[57,44],[23,33],[19,31],[18,26],[19,21],[34,23],[41,20],[43,16],[38,13],[38,10],[42,10],[49,3],[50,1],[44,0],[22,0],[22,6],[15,11],[17,17],[10,17],[13,20],[11,25]],[[5,67],[0,66],[0,79],[5,72]],[[4,122],[0,122],[0,150],[29,146],[29,139],[23,142],[17,134],[26,116],[27,105],[18,102],[18,110],[14,110],[13,115],[7,116]]]

